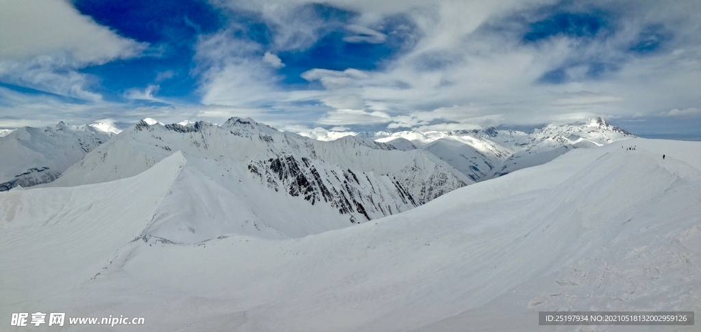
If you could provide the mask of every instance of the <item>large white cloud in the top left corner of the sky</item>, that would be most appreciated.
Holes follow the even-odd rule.
[[[79,68],[135,57],[147,47],[62,0],[0,0],[0,31],[0,81],[86,101],[102,96],[91,91],[97,79]]]

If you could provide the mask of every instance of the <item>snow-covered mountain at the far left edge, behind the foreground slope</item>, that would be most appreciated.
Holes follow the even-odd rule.
[[[23,127],[0,137],[0,192],[55,180],[69,166],[107,142],[113,133],[92,125]]]

